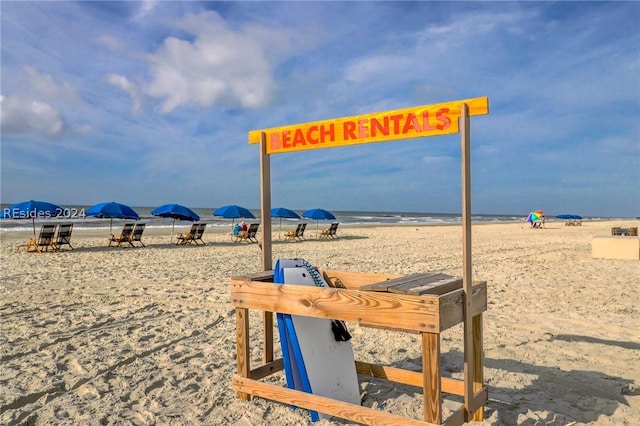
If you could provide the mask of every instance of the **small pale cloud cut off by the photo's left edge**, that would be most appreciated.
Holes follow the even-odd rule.
[[[57,136],[64,120],[51,105],[36,100],[0,96],[0,128],[2,133],[36,133]]]

